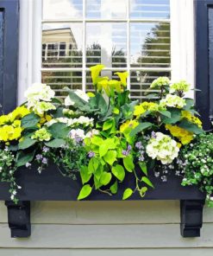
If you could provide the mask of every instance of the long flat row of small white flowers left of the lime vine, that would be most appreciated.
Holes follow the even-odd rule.
[[[80,116],[79,118],[54,118],[47,122],[45,125],[48,127],[55,124],[55,123],[64,123],[69,127],[76,127],[78,125],[86,126],[93,126],[93,118],[88,118],[85,116]]]

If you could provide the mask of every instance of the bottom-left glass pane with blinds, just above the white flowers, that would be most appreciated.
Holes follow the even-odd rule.
[[[57,97],[65,97],[67,95],[66,90],[64,90],[65,87],[72,90],[82,89],[82,72],[42,72],[42,83],[51,86]]]

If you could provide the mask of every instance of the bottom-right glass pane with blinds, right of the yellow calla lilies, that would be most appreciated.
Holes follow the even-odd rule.
[[[151,85],[153,80],[159,76],[167,76],[170,78],[171,74],[167,72],[159,71],[131,71],[130,74],[130,90],[131,99],[144,99],[147,94],[147,88]],[[148,92],[156,92],[156,90],[149,90]]]

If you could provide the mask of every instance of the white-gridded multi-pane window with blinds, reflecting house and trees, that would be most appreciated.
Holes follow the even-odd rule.
[[[169,0],[43,0],[42,82],[91,91],[89,67],[103,75],[128,71],[131,97],[142,99],[150,82],[171,76]]]

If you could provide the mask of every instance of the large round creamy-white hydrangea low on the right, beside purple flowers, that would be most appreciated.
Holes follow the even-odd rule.
[[[146,151],[148,157],[156,158],[163,164],[172,163],[179,155],[177,142],[161,132],[156,132],[153,138],[150,138]]]

